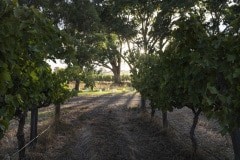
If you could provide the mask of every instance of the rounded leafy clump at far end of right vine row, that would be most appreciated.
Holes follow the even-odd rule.
[[[165,62],[160,55],[142,55],[136,68],[131,70],[133,87],[150,100],[153,108],[172,111],[173,107],[181,107],[175,97],[178,87],[174,83],[176,75],[171,74],[175,70],[171,69],[172,62]]]

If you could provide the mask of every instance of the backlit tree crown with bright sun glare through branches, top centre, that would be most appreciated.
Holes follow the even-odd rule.
[[[133,53],[154,54],[157,50],[163,49],[168,40],[171,29],[173,11],[162,10],[159,1],[135,0],[115,1],[118,15],[124,24],[128,24],[126,32],[118,29],[128,46],[126,61],[130,61],[130,68],[134,64]],[[130,58],[131,57],[131,58]]]

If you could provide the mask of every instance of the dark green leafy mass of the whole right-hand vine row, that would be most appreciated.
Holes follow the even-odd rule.
[[[201,109],[219,121],[225,134],[240,127],[240,23],[239,17],[231,14],[239,14],[239,4],[196,2],[196,6],[189,3],[188,14],[186,8],[178,10],[180,17],[164,51],[137,58],[132,82],[153,106]],[[210,20],[206,13],[211,14]],[[226,25],[222,30],[221,22]]]

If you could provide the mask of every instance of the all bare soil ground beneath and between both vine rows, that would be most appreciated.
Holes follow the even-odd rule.
[[[49,120],[54,107],[41,109],[35,151],[27,159],[43,160],[225,160],[233,159],[229,136],[221,136],[215,121],[200,116],[196,129],[198,153],[192,157],[189,137],[192,113],[183,108],[168,114],[163,129],[161,112],[154,118],[139,111],[137,93],[86,95],[62,105],[61,122]],[[47,116],[46,116],[47,115]],[[52,118],[54,119],[54,118]],[[50,127],[49,127],[50,126]],[[17,121],[0,141],[0,159],[17,159]],[[28,140],[29,125],[25,127]]]

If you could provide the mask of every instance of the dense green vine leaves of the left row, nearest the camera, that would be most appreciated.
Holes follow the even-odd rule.
[[[45,59],[67,57],[71,45],[68,36],[42,13],[17,1],[1,1],[0,21],[2,137],[14,115],[52,102],[53,79]]]

